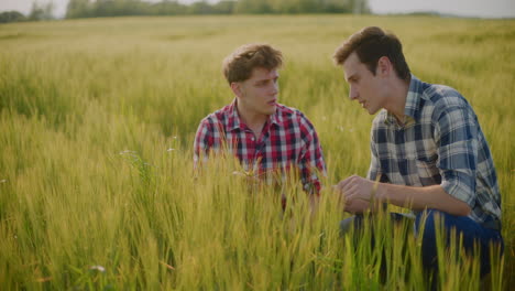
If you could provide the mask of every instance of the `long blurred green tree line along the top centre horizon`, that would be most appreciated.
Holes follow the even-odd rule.
[[[368,13],[366,0],[222,0],[191,4],[175,0],[69,0],[66,18],[186,14]]]

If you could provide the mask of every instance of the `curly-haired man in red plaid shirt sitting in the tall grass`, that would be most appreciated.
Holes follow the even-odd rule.
[[[282,64],[282,53],[266,44],[243,45],[226,57],[223,74],[235,98],[200,121],[195,164],[224,149],[258,177],[297,169],[304,190],[318,195],[317,172],[326,172],[322,151],[303,112],[277,103]]]

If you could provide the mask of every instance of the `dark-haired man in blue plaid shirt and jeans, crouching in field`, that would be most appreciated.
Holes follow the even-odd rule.
[[[346,211],[358,214],[342,222],[342,230],[361,225],[359,214],[371,201],[410,208],[416,231],[424,229],[423,263],[435,271],[435,217],[441,217],[447,236],[456,229],[469,254],[474,244],[480,247],[481,273],[487,273],[490,245],[504,244],[501,194],[470,104],[453,88],[412,75],[399,40],[380,28],[353,34],[333,58],[343,66],[350,99],[371,115],[381,110],[372,125],[366,179],[353,175],[336,186]]]

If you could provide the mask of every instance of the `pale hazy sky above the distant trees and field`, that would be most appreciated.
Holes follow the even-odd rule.
[[[68,0],[0,0],[0,12],[17,10],[28,14],[32,2],[54,2],[54,14],[63,17],[66,12]],[[160,2],[160,0],[147,0]],[[179,0],[183,3],[195,0]],[[217,2],[217,0],[208,0]],[[369,0],[369,7],[373,13],[407,13],[417,11],[435,11],[446,14],[480,18],[515,18],[514,0]]]

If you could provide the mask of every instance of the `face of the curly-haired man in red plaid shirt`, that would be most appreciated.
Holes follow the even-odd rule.
[[[238,83],[238,101],[248,112],[273,115],[277,107],[278,72],[256,67],[249,79]]]

